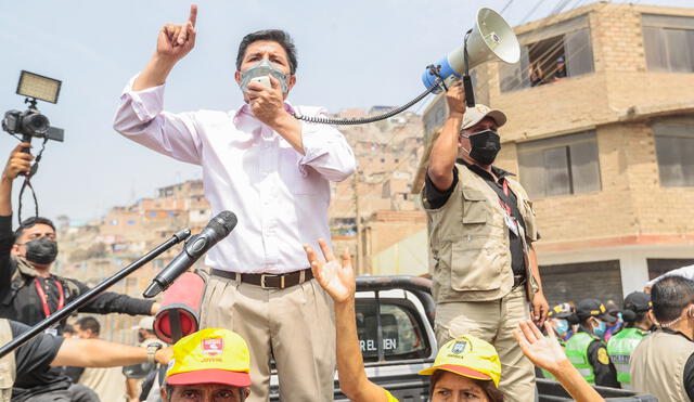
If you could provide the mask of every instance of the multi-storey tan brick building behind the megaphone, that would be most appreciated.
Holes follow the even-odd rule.
[[[550,302],[621,299],[693,263],[694,9],[600,2],[515,33],[520,62],[474,78],[509,117],[497,165],[535,200]],[[425,113],[415,192],[446,114],[442,98]]]

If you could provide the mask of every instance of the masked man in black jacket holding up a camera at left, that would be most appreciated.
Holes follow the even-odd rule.
[[[49,219],[28,218],[12,233],[12,182],[31,169],[34,156],[22,152],[28,143],[17,145],[0,178],[0,317],[27,325],[62,309],[89,290],[81,282],[51,273],[57,256],[55,226]],[[115,293],[102,293],[80,312],[150,315],[158,311],[154,301],[134,299]],[[61,323],[56,333],[62,332]]]

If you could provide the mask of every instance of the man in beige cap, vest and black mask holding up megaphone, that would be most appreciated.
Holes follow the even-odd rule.
[[[535,400],[535,368],[512,330],[529,319],[541,325],[542,294],[532,242],[535,212],[523,186],[493,166],[497,129],[506,116],[465,107],[460,82],[447,92],[449,116],[434,143],[423,204],[434,257],[438,345],[462,334],[492,343],[502,364],[501,391],[512,401]]]

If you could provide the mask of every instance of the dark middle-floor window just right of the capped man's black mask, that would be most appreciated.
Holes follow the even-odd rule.
[[[595,131],[517,145],[520,183],[531,198],[601,190]]]

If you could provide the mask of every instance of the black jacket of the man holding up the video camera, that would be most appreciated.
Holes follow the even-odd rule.
[[[0,216],[0,317],[18,321],[26,325],[36,325],[46,317],[43,304],[36,288],[36,281],[43,287],[51,313],[59,303],[61,283],[65,304],[89,290],[83,283],[51,274],[49,278],[36,276],[31,270],[17,267],[17,260],[10,251],[14,244],[12,216]],[[18,270],[18,271],[17,271]],[[130,315],[150,315],[154,301],[136,299],[130,296],[104,291],[85,304],[79,312]]]

